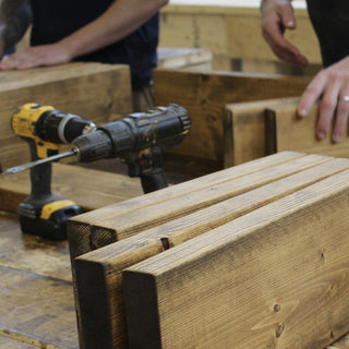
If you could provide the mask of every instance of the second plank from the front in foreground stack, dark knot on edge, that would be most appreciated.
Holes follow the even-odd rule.
[[[77,257],[84,348],[128,347],[122,269],[348,168],[348,160],[333,159]]]

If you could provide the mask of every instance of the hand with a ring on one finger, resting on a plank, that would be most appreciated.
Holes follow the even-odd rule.
[[[332,141],[339,142],[347,131],[349,116],[349,57],[320,71],[301,96],[298,115],[306,117],[321,99],[316,135],[326,137],[335,119]]]

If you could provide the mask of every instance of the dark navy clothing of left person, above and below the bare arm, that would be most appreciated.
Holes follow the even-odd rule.
[[[113,0],[31,0],[31,45],[56,43],[103,14]],[[157,65],[159,14],[122,40],[75,60],[129,64],[133,87],[146,86]]]

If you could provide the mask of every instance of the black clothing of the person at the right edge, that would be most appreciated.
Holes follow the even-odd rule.
[[[318,38],[323,65],[328,67],[349,56],[349,1],[306,0],[306,3]]]

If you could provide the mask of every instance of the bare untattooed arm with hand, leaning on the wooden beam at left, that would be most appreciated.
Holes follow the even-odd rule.
[[[0,69],[28,69],[69,62],[122,39],[167,3],[168,0],[117,0],[104,14],[70,36],[51,45],[29,47],[13,53],[0,63]]]

